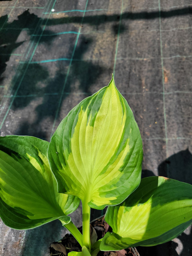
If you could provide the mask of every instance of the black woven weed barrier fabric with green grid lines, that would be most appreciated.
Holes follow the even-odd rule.
[[[0,1],[0,130],[50,140],[67,113],[112,76],[143,139],[143,177],[192,184],[190,0]],[[104,212],[92,211],[92,219]],[[72,214],[81,226],[81,208]],[[66,230],[0,223],[0,255],[44,256]],[[188,227],[143,255],[192,254]]]

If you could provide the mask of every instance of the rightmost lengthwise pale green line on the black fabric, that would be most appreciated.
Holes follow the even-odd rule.
[[[165,142],[166,142],[166,157],[168,157],[168,140],[167,140],[167,117],[165,108],[165,84],[164,84],[164,62],[163,62],[163,44],[162,44],[162,34],[161,34],[161,5],[160,0],[158,0],[159,5],[159,29],[160,29],[160,48],[161,48],[161,68],[162,68],[162,83],[163,83],[163,109],[164,109],[164,126],[165,126]],[[169,170],[167,169],[167,176],[169,177]]]

